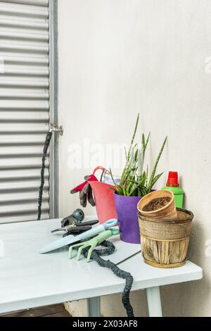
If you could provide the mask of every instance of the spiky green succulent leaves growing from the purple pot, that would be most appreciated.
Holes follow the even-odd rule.
[[[148,134],[147,138],[145,135],[142,135],[141,144],[135,144],[134,140],[136,137],[136,132],[138,130],[139,125],[139,115],[136,119],[136,125],[134,129],[134,133],[132,136],[132,141],[129,145],[128,152],[125,151],[126,163],[124,166],[124,170],[122,172],[122,177],[120,179],[120,184],[117,185],[113,178],[113,173],[110,170],[110,175],[113,179],[115,185],[115,193],[124,196],[145,196],[150,193],[153,189],[155,183],[159,180],[163,173],[159,173],[156,175],[156,170],[158,168],[158,163],[162,156],[162,151],[165,148],[165,144],[167,142],[167,137],[162,144],[160,152],[158,154],[158,158],[155,161],[155,165],[151,176],[148,174],[148,165],[146,170],[144,169],[144,161],[146,149],[148,146],[149,139],[151,137],[151,133]]]

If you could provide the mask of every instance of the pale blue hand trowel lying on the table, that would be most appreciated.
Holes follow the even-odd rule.
[[[39,253],[45,254],[45,253],[48,253],[49,251],[55,251],[56,249],[59,249],[60,247],[67,246],[67,245],[73,244],[75,242],[79,242],[81,240],[89,239],[91,237],[98,235],[99,233],[101,233],[105,230],[110,229],[110,227],[116,226],[117,223],[118,223],[118,220],[114,218],[112,220],[108,220],[106,223],[104,223],[102,225],[93,227],[91,230],[86,231],[86,232],[82,233],[81,235],[77,235],[77,236],[70,235],[67,237],[63,237],[61,239],[56,240],[56,242],[51,242],[50,244],[44,246],[39,251]]]

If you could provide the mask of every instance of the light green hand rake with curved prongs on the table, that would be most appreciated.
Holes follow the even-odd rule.
[[[91,253],[92,251],[96,248],[96,246],[98,246],[99,244],[101,244],[101,242],[105,242],[105,240],[107,240],[108,238],[115,236],[115,235],[120,235],[120,230],[118,229],[110,229],[110,230],[106,230],[103,231],[100,235],[89,239],[87,242],[81,242],[79,244],[75,244],[70,246],[69,249],[69,258],[72,258],[72,249],[79,247],[78,252],[77,252],[77,261],[79,261],[79,258],[82,254],[82,250],[86,247],[89,247],[89,251],[88,251],[88,255],[87,255],[87,262],[90,261],[91,258]]]

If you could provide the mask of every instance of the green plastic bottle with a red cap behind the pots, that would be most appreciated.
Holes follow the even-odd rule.
[[[162,189],[167,189],[174,194],[174,201],[177,208],[183,208],[184,190],[179,187],[178,173],[170,171],[167,184]]]

